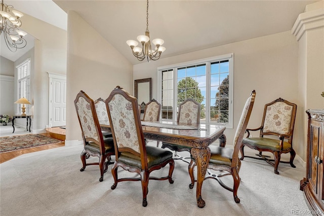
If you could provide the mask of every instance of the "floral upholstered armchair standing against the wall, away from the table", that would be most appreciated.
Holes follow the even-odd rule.
[[[247,137],[242,140],[240,148],[241,160],[244,157],[265,160],[274,166],[274,173],[279,174],[279,163],[290,163],[294,165],[296,156],[293,149],[293,133],[296,118],[297,105],[282,98],[278,98],[270,103],[265,104],[261,126],[256,129],[247,129]],[[260,130],[259,137],[250,137],[250,131]],[[265,137],[266,136],[266,137]],[[275,136],[277,138],[275,138]],[[245,156],[244,147],[259,151],[258,157]],[[269,159],[262,152],[271,152],[274,160]],[[280,155],[290,153],[290,161],[280,161]],[[274,161],[274,163],[273,163]]]

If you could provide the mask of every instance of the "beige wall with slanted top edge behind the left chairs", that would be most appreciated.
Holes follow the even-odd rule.
[[[133,66],[76,12],[68,12],[66,145],[82,140],[74,99],[83,90],[106,99],[117,86],[132,93]]]

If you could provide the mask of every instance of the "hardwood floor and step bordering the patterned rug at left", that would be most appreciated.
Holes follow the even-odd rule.
[[[60,139],[60,140],[65,140],[65,129],[50,128],[50,129],[47,129],[47,131],[48,131],[47,133],[42,133],[42,135]],[[23,154],[27,154],[27,153],[31,153],[31,152],[38,152],[38,151],[47,150],[47,149],[54,149],[54,148],[58,148],[58,147],[64,147],[64,141],[62,141],[60,143],[45,145],[45,146],[32,147],[32,148],[21,149],[21,150],[10,151],[10,152],[3,152],[3,153],[0,153],[0,163],[9,161],[19,155],[23,155]]]

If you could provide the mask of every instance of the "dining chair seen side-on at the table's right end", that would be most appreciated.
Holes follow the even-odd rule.
[[[220,171],[220,174],[208,170],[204,179],[204,181],[208,178],[216,179],[217,182],[223,188],[233,192],[233,197],[236,203],[240,202],[240,199],[237,197],[237,189],[240,184],[240,177],[238,173],[241,166],[241,162],[238,159],[238,152],[239,152],[240,143],[244,137],[244,133],[251,116],[255,95],[256,92],[255,90],[253,90],[251,92],[251,96],[247,99],[245,103],[234,136],[234,141],[233,141],[234,149],[229,149],[226,147],[219,147],[219,146],[210,146],[211,158],[208,164],[208,169]],[[193,188],[195,182],[194,173],[193,173],[195,165],[196,162],[194,161],[193,157],[191,157],[191,162],[188,166],[189,175],[191,178],[191,184],[189,185],[190,189]],[[231,175],[233,177],[233,187],[229,187],[222,182],[221,177],[226,175]]]

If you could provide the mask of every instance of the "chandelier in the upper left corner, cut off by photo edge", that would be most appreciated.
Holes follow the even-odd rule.
[[[7,47],[10,51],[16,52],[17,49],[24,48],[27,45],[23,38],[27,33],[18,28],[22,24],[20,17],[24,15],[15,10],[12,11],[14,15],[11,15],[9,12],[13,6],[4,4],[4,0],[2,0],[0,8],[0,35],[4,33]]]

